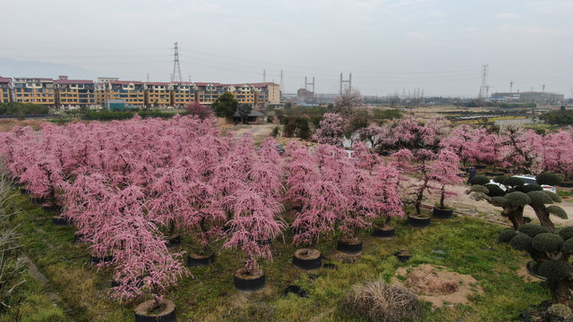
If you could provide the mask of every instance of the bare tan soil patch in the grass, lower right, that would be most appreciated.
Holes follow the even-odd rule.
[[[398,268],[392,283],[402,284],[418,294],[423,301],[429,301],[434,307],[445,304],[469,303],[468,297],[475,293],[483,294],[483,288],[471,275],[450,272],[446,267],[434,267],[423,264],[419,267]],[[402,276],[400,281],[398,276]]]

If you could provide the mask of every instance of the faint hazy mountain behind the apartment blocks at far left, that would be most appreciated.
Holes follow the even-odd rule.
[[[57,79],[59,75],[67,75],[70,80],[96,80],[98,78],[96,72],[82,67],[38,61],[20,61],[0,57],[0,76],[2,77],[46,77]]]

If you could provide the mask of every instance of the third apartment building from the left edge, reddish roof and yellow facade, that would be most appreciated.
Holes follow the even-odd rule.
[[[93,80],[68,80],[67,76],[60,76],[54,85],[57,108],[91,108],[96,104]]]

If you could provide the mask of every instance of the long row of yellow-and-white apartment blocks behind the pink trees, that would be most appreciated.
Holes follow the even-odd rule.
[[[280,89],[273,82],[221,84],[217,82],[142,82],[98,78],[69,80],[0,77],[0,103],[20,102],[54,108],[95,108],[120,99],[127,106],[183,107],[191,102],[211,104],[224,93],[231,93],[239,104],[269,106],[280,103]]]

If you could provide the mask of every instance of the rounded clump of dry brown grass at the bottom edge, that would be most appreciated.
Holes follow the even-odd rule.
[[[355,285],[346,297],[346,309],[370,321],[418,321],[422,304],[403,286],[375,281]]]

